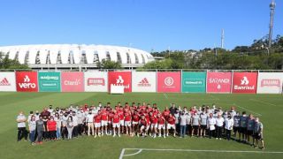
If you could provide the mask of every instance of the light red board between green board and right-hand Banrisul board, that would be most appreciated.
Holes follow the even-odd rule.
[[[230,93],[231,72],[207,72],[207,93]]]

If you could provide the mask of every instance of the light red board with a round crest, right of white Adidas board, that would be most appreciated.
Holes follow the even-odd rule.
[[[157,72],[157,92],[180,92],[180,72]]]

